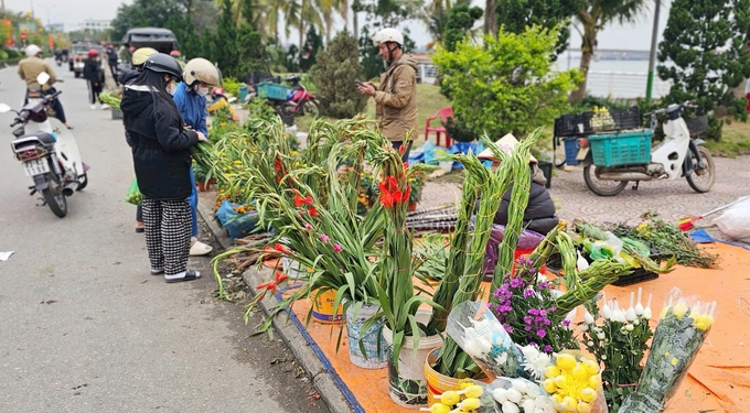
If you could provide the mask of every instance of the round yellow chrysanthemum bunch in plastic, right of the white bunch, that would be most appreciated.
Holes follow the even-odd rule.
[[[579,350],[565,350],[547,368],[542,388],[559,413],[607,413],[599,365]]]

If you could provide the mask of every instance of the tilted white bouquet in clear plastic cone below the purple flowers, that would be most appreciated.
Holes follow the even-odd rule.
[[[485,303],[467,301],[453,307],[446,333],[488,376],[529,377],[524,355]]]

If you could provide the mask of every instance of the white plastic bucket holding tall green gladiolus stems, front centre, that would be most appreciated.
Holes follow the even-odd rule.
[[[427,324],[432,315],[431,309],[417,311],[418,322]],[[393,333],[383,327],[383,337],[388,344],[388,395],[394,403],[419,409],[427,406],[427,379],[425,378],[425,360],[435,348],[442,346],[439,335],[419,337],[419,347],[414,351],[413,337],[404,338],[404,347],[398,360],[393,359]]]

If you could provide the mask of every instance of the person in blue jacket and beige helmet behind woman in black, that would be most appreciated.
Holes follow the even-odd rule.
[[[184,81],[178,85],[172,96],[174,105],[180,109],[182,119],[191,129],[207,135],[206,95],[212,86],[218,85],[218,70],[211,62],[196,57],[185,64],[183,79]],[[211,252],[212,248],[197,240],[197,189],[192,167],[190,181],[193,184],[193,193],[189,198],[193,214],[190,254],[205,256]]]

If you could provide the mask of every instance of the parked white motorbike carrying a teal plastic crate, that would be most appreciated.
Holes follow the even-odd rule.
[[[673,104],[665,109],[645,113],[651,117],[651,129],[581,139],[579,159],[585,156],[583,180],[589,189],[600,196],[614,196],[628,186],[629,181],[635,181],[633,189],[638,189],[641,181],[684,176],[695,192],[710,191],[716,180],[714,159],[704,146],[705,141],[698,138],[706,132],[708,121],[705,116],[698,117],[688,126],[683,119],[683,111],[690,106],[689,101]],[[664,141],[651,149],[651,135],[658,115],[665,116]],[[604,145],[599,142],[610,137],[624,138],[630,142],[625,141],[624,145],[611,142],[608,142],[611,145]],[[645,160],[633,162],[643,155]]]

